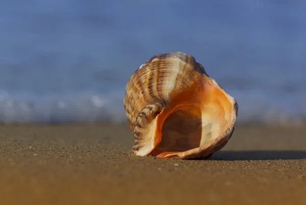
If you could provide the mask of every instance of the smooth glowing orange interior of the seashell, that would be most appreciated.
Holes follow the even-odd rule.
[[[201,78],[183,93],[172,93],[170,104],[150,124],[150,150],[166,158],[205,146],[227,132],[233,101],[211,78]]]

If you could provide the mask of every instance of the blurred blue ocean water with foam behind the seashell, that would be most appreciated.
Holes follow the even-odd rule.
[[[0,1],[0,122],[126,122],[132,73],[195,57],[238,122],[306,119],[306,1]]]

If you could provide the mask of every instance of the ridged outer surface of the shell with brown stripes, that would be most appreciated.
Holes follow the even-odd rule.
[[[145,127],[169,104],[172,91],[188,88],[190,79],[206,74],[203,66],[181,52],[152,56],[131,76],[126,85],[123,107],[134,134],[133,151],[138,151],[149,139],[144,139]]]

